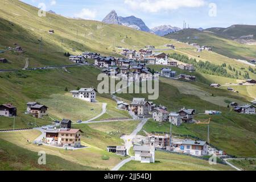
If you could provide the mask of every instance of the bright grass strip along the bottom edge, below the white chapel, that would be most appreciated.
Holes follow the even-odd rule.
[[[155,163],[143,164],[131,161],[126,163],[121,171],[229,171],[229,166],[222,164],[210,165],[207,160],[192,158],[190,156],[155,152]]]

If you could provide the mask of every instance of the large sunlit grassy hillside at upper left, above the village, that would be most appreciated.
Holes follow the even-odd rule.
[[[68,64],[64,52],[77,55],[82,51],[93,51],[117,55],[117,46],[135,49],[168,42],[159,36],[125,26],[68,19],[50,13],[40,17],[38,9],[18,0],[2,3],[0,17],[0,49],[14,47],[17,43],[26,51],[2,53],[1,57],[10,60],[10,64],[0,64],[0,68],[23,68],[26,57],[30,60],[29,67]],[[49,34],[49,30],[54,30],[55,34]],[[73,48],[76,52],[72,52]]]

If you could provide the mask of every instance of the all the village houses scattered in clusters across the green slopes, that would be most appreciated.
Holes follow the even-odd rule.
[[[196,44],[191,46],[195,47]],[[166,45],[171,49],[175,49],[173,45]],[[154,46],[146,46],[140,49],[139,52],[130,49],[123,49],[121,52],[122,57],[107,57],[101,56],[98,53],[84,52],[80,56],[70,56],[69,60],[75,63],[87,63],[87,59],[94,60],[94,67],[100,68],[103,73],[108,76],[120,76],[128,78],[129,74],[133,78],[148,78],[150,69],[147,68],[148,64],[163,65],[161,72],[162,77],[173,79],[184,78],[187,81],[196,81],[195,76],[191,75],[176,75],[176,71],[172,71],[169,67],[178,67],[190,72],[195,71],[191,64],[179,64],[174,59],[169,59],[168,55],[163,52],[152,51]],[[208,47],[197,47],[197,51],[203,50],[211,51]],[[135,75],[135,76],[134,76]],[[255,84],[255,80],[247,80],[248,84]],[[211,84],[210,86],[218,88],[220,84]],[[73,98],[81,99],[86,102],[97,102],[97,90],[94,88],[81,88],[79,90],[72,90]],[[24,103],[25,105],[25,103]],[[48,107],[41,105],[38,102],[27,102],[26,114],[31,114],[35,118],[42,118],[48,115]],[[250,105],[239,105],[232,102],[231,106],[234,111],[241,114],[255,114],[256,100],[252,101]],[[128,104],[122,101],[117,101],[117,108],[120,110],[129,111],[132,113],[134,119],[153,119],[155,122],[169,122],[170,125],[179,127],[183,123],[196,123],[194,115],[197,114],[193,108],[180,108],[177,111],[168,111],[168,108],[162,105],[156,105],[154,102],[147,101],[146,98],[133,98],[133,101]],[[15,117],[17,113],[16,107],[12,104],[0,105],[0,116]],[[221,111],[206,110],[204,114],[216,115],[221,114]],[[76,150],[83,148],[81,145],[82,130],[72,129],[72,123],[68,118],[63,118],[62,121],[57,122],[54,126],[43,126],[42,130],[44,137],[38,144],[45,144],[53,147],[71,148]],[[82,121],[75,121],[77,124]],[[192,139],[179,139],[174,138],[172,134],[148,134],[144,138],[135,138],[133,141],[133,151],[135,152],[135,160],[141,163],[154,163],[155,150],[167,150],[171,152],[178,152],[187,155],[203,156],[217,154],[224,156],[225,152],[210,147],[207,141],[192,140]],[[129,155],[129,148],[126,146],[108,146],[108,152],[113,152],[117,155]]]

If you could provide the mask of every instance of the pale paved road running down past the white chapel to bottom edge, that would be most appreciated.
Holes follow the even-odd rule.
[[[129,154],[130,148],[133,146],[133,139],[136,137],[139,131],[141,131],[142,127],[146,124],[147,119],[142,119],[142,121],[139,123],[139,125],[136,127],[136,129],[131,133],[130,135],[125,135],[121,137],[125,141],[125,148],[127,150],[127,154],[130,156],[130,158],[122,160],[120,163],[118,163],[111,171],[118,171],[123,165],[130,162],[131,160],[134,160],[134,156],[131,156]]]

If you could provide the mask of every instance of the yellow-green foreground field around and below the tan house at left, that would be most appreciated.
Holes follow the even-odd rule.
[[[77,164],[77,167],[85,166],[95,170],[109,170],[117,163],[121,162],[122,159],[125,159],[125,157],[117,156],[106,151],[106,146],[108,145],[122,144],[121,139],[102,133],[98,130],[90,129],[90,127],[86,125],[79,125],[77,127],[84,131],[81,144],[87,146],[87,148],[75,151],[66,151],[55,147],[36,146],[27,143],[27,139],[32,141],[39,135],[39,131],[35,130],[0,133],[0,138],[33,152],[45,151],[47,156],[53,155],[63,158],[68,162]],[[108,156],[109,160],[102,160],[102,156]]]

